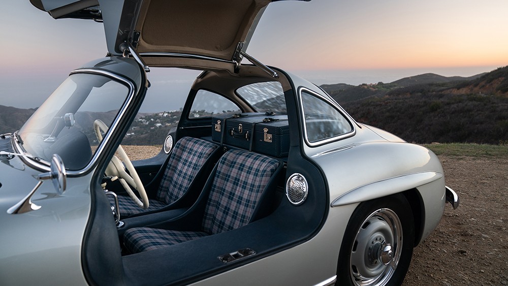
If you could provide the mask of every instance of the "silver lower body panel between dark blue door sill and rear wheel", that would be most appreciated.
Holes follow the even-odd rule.
[[[350,204],[342,206],[340,210],[332,208],[319,233],[302,244],[204,279],[195,285],[319,284],[333,277],[337,271],[339,246],[347,225],[347,220],[342,218],[351,216],[357,206]],[[298,221],[288,218],[288,224],[298,225]]]

